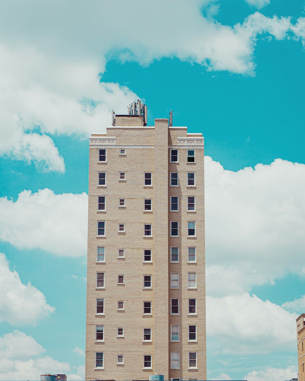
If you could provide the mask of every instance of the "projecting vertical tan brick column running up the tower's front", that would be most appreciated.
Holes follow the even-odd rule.
[[[155,119],[155,354],[154,372],[169,379],[168,119]]]

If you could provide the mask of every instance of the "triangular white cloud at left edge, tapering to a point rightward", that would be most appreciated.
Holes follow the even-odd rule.
[[[48,316],[54,311],[54,307],[47,304],[43,293],[30,283],[24,285],[16,271],[11,271],[5,255],[0,253],[0,321],[6,321],[14,325],[35,324],[37,320]],[[16,338],[19,331],[10,334],[10,340]],[[20,333],[22,334],[22,333]],[[7,342],[6,336],[0,341]],[[28,339],[29,349],[31,338]],[[38,348],[38,347],[36,347]],[[0,356],[0,358],[3,356]]]

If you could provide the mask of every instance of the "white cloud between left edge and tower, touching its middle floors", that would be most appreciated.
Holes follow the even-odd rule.
[[[18,248],[40,248],[59,256],[87,252],[88,196],[23,191],[14,202],[0,198],[0,239]]]

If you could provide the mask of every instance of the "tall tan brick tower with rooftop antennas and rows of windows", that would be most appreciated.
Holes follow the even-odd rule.
[[[205,380],[204,138],[138,101],[90,137],[86,380]]]

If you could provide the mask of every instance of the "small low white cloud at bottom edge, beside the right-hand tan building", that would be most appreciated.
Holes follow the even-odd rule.
[[[247,381],[283,381],[297,378],[297,367],[290,365],[287,368],[266,368],[263,370],[253,370],[244,379]]]

